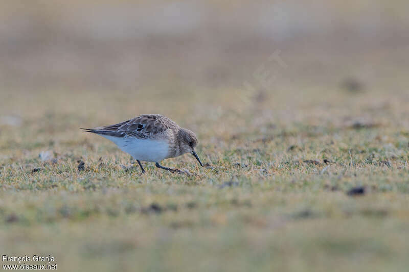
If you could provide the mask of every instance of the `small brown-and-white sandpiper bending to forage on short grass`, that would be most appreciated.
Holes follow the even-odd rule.
[[[164,167],[159,162],[185,153],[193,154],[203,166],[195,152],[196,135],[188,129],[180,128],[164,115],[139,115],[116,125],[82,130],[99,134],[114,142],[123,152],[137,160],[142,173],[145,169],[141,161],[155,162],[158,168],[181,172],[178,169]]]

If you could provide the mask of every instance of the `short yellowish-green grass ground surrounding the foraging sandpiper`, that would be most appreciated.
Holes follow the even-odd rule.
[[[0,127],[2,254],[64,271],[407,269],[405,92],[163,89],[2,93],[2,116],[22,121]],[[139,176],[78,129],[142,113],[195,131],[206,166],[185,155],[163,165],[191,175]]]

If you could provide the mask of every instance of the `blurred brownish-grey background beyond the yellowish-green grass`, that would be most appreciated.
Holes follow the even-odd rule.
[[[242,88],[264,65],[275,78],[268,91],[345,79],[386,85],[407,72],[396,68],[408,67],[408,8],[403,0],[2,1],[0,82],[2,92],[172,94]],[[269,62],[277,52],[285,69]]]

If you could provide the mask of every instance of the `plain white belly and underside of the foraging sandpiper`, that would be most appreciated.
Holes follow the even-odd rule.
[[[166,141],[101,136],[114,142],[135,160],[160,162],[168,156],[169,144]]]

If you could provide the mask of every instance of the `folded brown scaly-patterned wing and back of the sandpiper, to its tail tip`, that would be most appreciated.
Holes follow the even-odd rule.
[[[147,139],[154,138],[172,127],[177,127],[177,125],[168,117],[158,114],[147,114],[117,123],[116,125],[83,130],[115,137]]]

